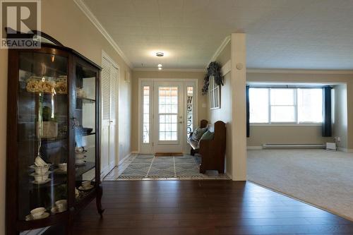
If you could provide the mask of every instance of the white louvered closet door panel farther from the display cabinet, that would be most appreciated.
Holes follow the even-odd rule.
[[[118,76],[114,66],[110,68],[110,113],[109,113],[109,171],[116,165],[116,123],[118,114]]]

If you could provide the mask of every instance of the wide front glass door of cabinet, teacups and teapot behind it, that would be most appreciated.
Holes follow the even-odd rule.
[[[68,59],[19,53],[18,219],[67,210]],[[16,207],[14,207],[16,208]]]

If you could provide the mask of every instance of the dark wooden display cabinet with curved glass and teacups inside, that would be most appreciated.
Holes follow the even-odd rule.
[[[93,199],[103,212],[100,66],[41,37],[40,49],[8,50],[6,234],[54,224],[69,232]]]

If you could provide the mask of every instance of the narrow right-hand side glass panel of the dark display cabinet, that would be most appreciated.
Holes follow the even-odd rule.
[[[95,186],[97,69],[76,64],[75,199],[82,200]]]

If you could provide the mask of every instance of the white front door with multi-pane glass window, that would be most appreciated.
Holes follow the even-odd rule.
[[[155,82],[153,152],[184,152],[183,83]]]

